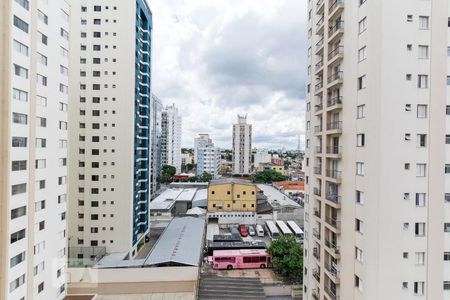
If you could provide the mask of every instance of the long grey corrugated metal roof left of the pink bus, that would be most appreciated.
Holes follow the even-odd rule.
[[[174,218],[150,251],[144,265],[198,266],[204,230],[204,219]]]

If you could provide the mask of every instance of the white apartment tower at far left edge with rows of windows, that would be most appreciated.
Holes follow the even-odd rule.
[[[65,295],[69,13],[0,4],[0,299]]]

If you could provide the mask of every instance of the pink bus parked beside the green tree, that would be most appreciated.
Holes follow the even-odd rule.
[[[208,262],[216,270],[271,267],[270,254],[261,249],[215,250]]]

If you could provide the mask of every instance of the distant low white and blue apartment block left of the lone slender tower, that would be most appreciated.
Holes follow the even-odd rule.
[[[217,178],[221,151],[220,148],[214,146],[208,134],[199,134],[199,137],[194,139],[194,153],[197,155],[194,157],[194,160],[197,161],[197,176],[207,172]]]

